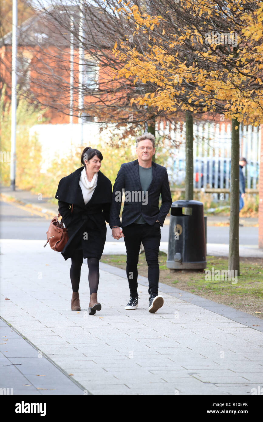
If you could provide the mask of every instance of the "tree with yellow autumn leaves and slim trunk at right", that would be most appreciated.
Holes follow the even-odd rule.
[[[239,123],[263,120],[263,3],[160,0],[147,14],[128,2],[119,13],[134,19],[139,43],[115,44],[123,62],[118,77],[156,85],[132,101],[193,114],[223,112],[232,119],[228,268],[239,274]]]

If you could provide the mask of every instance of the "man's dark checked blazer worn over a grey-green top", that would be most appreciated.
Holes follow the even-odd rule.
[[[121,209],[121,200],[119,200],[119,192],[125,190],[125,202],[122,211],[122,223],[120,222],[119,213]],[[166,215],[168,214],[171,204],[171,192],[168,182],[168,174],[166,168],[162,165],[152,162],[152,182],[147,189],[147,196],[137,196],[140,201],[134,200],[136,194],[133,192],[142,191],[138,160],[127,162],[121,165],[112,192],[110,221],[109,225],[125,227],[132,224],[141,214],[149,225],[154,225],[159,220],[163,226]],[[130,197],[126,193],[130,192]],[[159,197],[162,195],[162,205],[159,209]],[[117,200],[116,200],[117,199]],[[126,200],[127,199],[127,200]],[[146,199],[148,203],[146,204]]]

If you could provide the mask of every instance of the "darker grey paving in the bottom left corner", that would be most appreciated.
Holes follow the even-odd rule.
[[[0,388],[6,388],[9,394],[84,394],[79,383],[3,319],[0,319],[0,347]]]

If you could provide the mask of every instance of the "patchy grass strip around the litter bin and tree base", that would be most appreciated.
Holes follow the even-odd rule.
[[[214,267],[216,280],[206,280],[206,274],[201,271],[170,271],[166,268],[166,259],[166,254],[161,252],[159,254],[161,283],[263,319],[263,262],[261,258],[240,258],[240,276],[237,277],[236,284],[232,283],[236,280],[216,279],[216,270],[219,270],[221,274],[222,270],[228,269],[226,257],[206,257],[206,269],[212,271]],[[126,269],[126,255],[103,255],[101,262]],[[147,277],[148,266],[144,253],[139,255],[138,273]]]

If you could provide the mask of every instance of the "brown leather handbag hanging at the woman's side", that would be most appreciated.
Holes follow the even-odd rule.
[[[73,211],[73,204],[71,204],[71,214]],[[54,251],[62,252],[65,244],[68,241],[68,228],[64,227],[62,222],[58,221],[58,217],[61,214],[58,213],[57,217],[52,218],[49,230],[46,232],[47,242],[43,245],[44,247],[49,243],[51,249]]]

